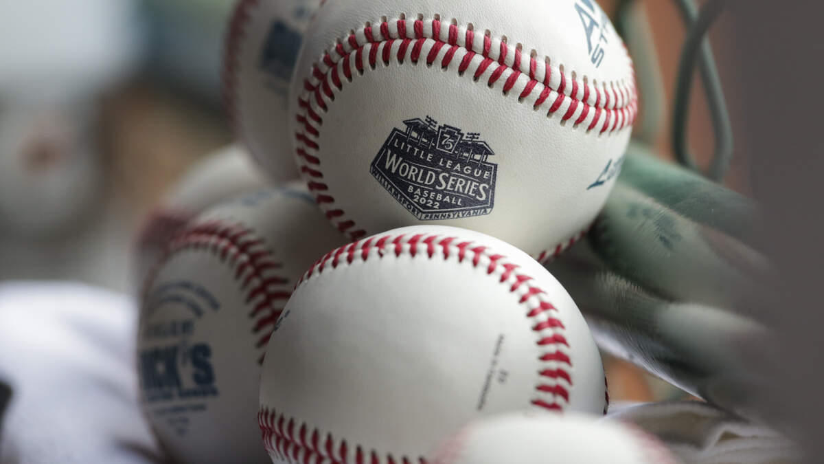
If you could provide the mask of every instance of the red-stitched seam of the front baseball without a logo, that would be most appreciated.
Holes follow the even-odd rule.
[[[326,253],[301,277],[296,289],[312,276],[321,274],[329,268],[335,269],[356,261],[366,262],[369,259],[391,256],[398,258],[401,255],[429,259],[442,257],[444,261],[455,257],[458,263],[471,260],[474,268],[484,268],[487,275],[499,275],[499,283],[507,286],[508,292],[518,297],[518,304],[527,309],[527,318],[535,321],[531,329],[538,335],[536,344],[541,347],[538,357],[541,369],[537,372],[535,396],[530,400],[530,404],[543,410],[564,410],[569,404],[569,387],[573,385],[573,366],[569,354],[565,353],[569,350],[569,342],[564,335],[564,324],[551,316],[557,308],[547,299],[545,291],[530,285],[532,277],[518,272],[520,267],[517,264],[509,263],[505,256],[493,253],[489,247],[474,244],[471,240],[461,241],[457,237],[438,234],[371,237],[363,242],[355,241]],[[300,425],[296,436],[296,420],[278,413],[268,405],[261,405],[258,421],[267,451],[292,462],[307,462],[313,457],[328,459],[334,464],[411,462],[408,457],[396,460],[391,455],[387,455],[383,460],[375,450],[365,451],[360,445],[353,447],[352,461],[349,456],[352,449],[345,439],[339,440],[339,444],[335,445],[335,438],[331,433],[322,433],[316,428],[309,430],[306,424]],[[322,444],[320,437],[325,437]],[[426,462],[422,457],[417,460]]]

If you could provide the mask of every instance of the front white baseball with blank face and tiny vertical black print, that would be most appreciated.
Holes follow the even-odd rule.
[[[521,409],[606,409],[587,324],[526,253],[438,225],[326,253],[284,307],[260,383],[276,463],[419,462],[467,421]]]

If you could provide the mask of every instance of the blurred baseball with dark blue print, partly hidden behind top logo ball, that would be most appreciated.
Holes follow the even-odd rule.
[[[321,0],[239,0],[227,26],[223,95],[236,135],[274,180],[297,178],[286,123],[303,31]]]

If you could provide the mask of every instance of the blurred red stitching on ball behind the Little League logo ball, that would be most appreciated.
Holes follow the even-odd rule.
[[[242,136],[237,116],[237,76],[240,68],[240,50],[246,38],[246,24],[252,18],[251,10],[260,4],[260,0],[238,0],[229,19],[226,30],[226,44],[223,50],[221,80],[223,85],[223,107],[229,118],[229,124],[235,134]]]

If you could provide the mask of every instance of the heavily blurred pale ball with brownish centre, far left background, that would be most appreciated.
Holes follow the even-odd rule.
[[[87,222],[105,184],[94,128],[87,102],[0,108],[0,234],[54,239]]]

